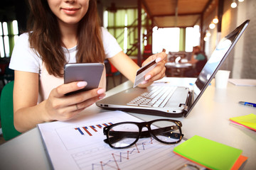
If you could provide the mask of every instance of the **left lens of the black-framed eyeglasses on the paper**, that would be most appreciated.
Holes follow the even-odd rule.
[[[109,131],[109,142],[113,147],[132,145],[139,135],[139,127],[132,123],[113,126]]]

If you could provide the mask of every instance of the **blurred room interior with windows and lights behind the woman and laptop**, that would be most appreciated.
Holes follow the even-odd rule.
[[[139,65],[163,48],[169,62],[188,62],[194,46],[209,58],[221,38],[250,19],[221,69],[230,70],[230,78],[256,79],[255,0],[97,0],[97,8],[102,26]],[[26,32],[28,13],[26,0],[1,0],[1,86],[13,79],[9,60],[16,38]],[[112,86],[122,83],[125,79],[107,64]],[[166,76],[186,77],[181,68],[167,69]]]

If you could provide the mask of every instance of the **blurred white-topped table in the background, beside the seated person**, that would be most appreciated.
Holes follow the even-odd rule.
[[[192,69],[191,63],[176,63],[166,62],[166,76],[167,77],[184,77],[184,73],[188,69]]]

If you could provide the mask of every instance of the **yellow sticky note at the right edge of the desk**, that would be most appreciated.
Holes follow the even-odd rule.
[[[238,123],[239,125],[250,128],[251,130],[256,130],[256,115],[242,115],[235,118],[230,118],[231,121]]]

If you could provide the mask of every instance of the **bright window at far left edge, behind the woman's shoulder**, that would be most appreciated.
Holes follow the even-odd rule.
[[[18,38],[18,22],[16,20],[6,23],[0,22],[0,55],[10,57],[14,43]]]

